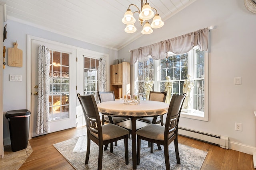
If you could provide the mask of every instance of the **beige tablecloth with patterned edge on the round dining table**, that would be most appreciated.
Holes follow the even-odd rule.
[[[124,100],[102,102],[98,104],[101,113],[129,117],[146,117],[167,113],[169,104],[150,100],[141,100],[140,104],[124,104]]]

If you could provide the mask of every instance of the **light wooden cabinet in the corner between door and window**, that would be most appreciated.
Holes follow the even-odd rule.
[[[130,63],[110,65],[110,90],[120,99],[130,93]]]

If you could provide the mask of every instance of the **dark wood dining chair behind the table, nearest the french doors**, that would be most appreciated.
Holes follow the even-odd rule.
[[[108,102],[108,101],[114,101],[115,100],[115,94],[114,91],[109,91],[109,92],[97,92],[100,103],[101,102]],[[102,114],[102,125],[104,125],[104,122],[107,123],[118,123],[121,121],[128,120],[130,118],[127,117],[116,117],[116,116],[105,116]]]

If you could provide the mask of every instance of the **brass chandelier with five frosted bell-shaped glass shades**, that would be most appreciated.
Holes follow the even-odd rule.
[[[161,17],[157,13],[157,10],[155,8],[152,8],[148,4],[147,0],[140,0],[140,2],[141,2],[140,9],[138,8],[138,6],[136,6],[134,4],[130,4],[128,7],[128,10],[126,10],[126,12],[124,13],[124,18],[122,19],[122,23],[126,24],[126,28],[124,29],[124,31],[127,33],[134,33],[137,30],[136,27],[134,26],[136,19],[133,17],[133,14],[135,12],[139,13],[138,20],[140,21],[141,26],[146,21],[143,26],[143,29],[141,31],[142,34],[150,34],[153,32],[152,28],[154,28],[154,29],[160,28],[164,25],[164,22],[162,21]],[[144,2],[146,2],[146,3],[144,3]],[[138,11],[132,12],[132,10],[130,10],[130,6],[135,6],[138,9]],[[156,10],[156,15],[152,11],[152,9]],[[148,20],[150,20],[152,18],[153,18],[153,20],[152,20],[152,23],[150,24],[148,22]]]

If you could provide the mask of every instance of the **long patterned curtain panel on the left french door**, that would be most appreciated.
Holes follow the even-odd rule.
[[[44,45],[38,48],[38,100],[36,134],[49,133],[49,74],[50,51]]]

